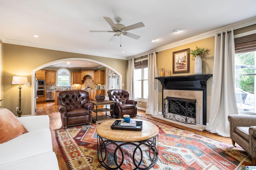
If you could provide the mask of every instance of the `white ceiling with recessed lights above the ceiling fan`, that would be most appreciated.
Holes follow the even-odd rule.
[[[109,41],[114,33],[89,32],[112,30],[104,16],[120,17],[125,26],[142,21],[145,27],[128,31],[140,39],[122,35],[120,47],[120,37]],[[127,59],[255,16],[255,0],[0,0],[0,39]],[[181,31],[174,33],[176,28]]]

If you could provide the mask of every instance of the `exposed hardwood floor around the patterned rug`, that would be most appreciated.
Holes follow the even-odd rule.
[[[60,149],[58,147],[58,143],[56,141],[55,133],[54,133],[54,129],[59,129],[62,125],[61,120],[60,120],[60,113],[58,111],[58,106],[55,106],[54,102],[39,102],[39,103],[36,104],[36,107],[37,107],[36,115],[49,115],[49,117],[50,117],[50,129],[51,129],[51,133],[52,133],[53,150],[56,153],[60,170],[68,170],[67,167],[66,167],[66,163],[65,163],[65,161],[64,161],[64,159],[63,159],[63,157],[60,153]],[[98,115],[101,115],[101,114],[105,114],[105,112],[104,113],[98,113]],[[137,115],[147,117],[147,118],[150,118],[150,119],[154,119],[154,118],[151,118],[151,115],[146,115],[145,111],[141,111],[141,110],[137,111]],[[191,131],[193,133],[203,135],[203,136],[206,136],[206,137],[209,137],[209,138],[212,138],[212,139],[216,139],[216,140],[224,142],[224,143],[232,144],[231,139],[228,138],[228,137],[221,137],[221,136],[218,136],[216,134],[212,134],[208,131],[200,132],[200,131],[192,130],[192,129],[189,129],[189,128],[186,128],[186,127],[183,127],[183,126],[179,126],[179,125],[175,125],[175,124],[172,124],[172,123],[169,123],[169,122],[166,122],[166,121],[162,121],[162,120],[159,120],[159,119],[157,119],[157,121],[160,121],[162,123],[166,123],[166,124],[174,126],[174,127],[178,127],[180,129]]]

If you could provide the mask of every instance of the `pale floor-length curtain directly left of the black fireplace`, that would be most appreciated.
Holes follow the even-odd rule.
[[[148,101],[146,107],[146,114],[159,114],[158,109],[158,88],[157,88],[157,68],[156,68],[156,52],[148,55]]]

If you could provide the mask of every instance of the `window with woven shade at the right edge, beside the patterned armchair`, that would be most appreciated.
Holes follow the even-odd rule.
[[[256,34],[235,38],[235,76],[238,112],[256,114]]]

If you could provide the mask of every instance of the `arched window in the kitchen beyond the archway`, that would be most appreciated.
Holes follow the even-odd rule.
[[[60,68],[57,71],[57,86],[70,86],[70,71]]]

